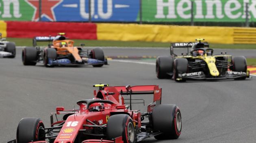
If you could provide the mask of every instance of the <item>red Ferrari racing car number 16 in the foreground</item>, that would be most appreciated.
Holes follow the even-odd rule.
[[[56,113],[50,116],[50,127],[45,127],[39,118],[20,120],[17,138],[10,143],[48,143],[46,139],[50,143],[135,143],[148,137],[178,139],[180,136],[180,109],[177,105],[161,104],[162,88],[93,86],[99,87],[98,92],[94,90],[95,98],[77,101],[78,109],[56,107]],[[132,99],[133,95],[154,95],[147,112],[132,110],[132,102],[144,103],[143,99]],[[58,120],[60,114],[63,117]]]

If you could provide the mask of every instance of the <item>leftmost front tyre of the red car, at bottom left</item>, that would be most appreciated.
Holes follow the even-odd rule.
[[[17,128],[17,143],[45,141],[45,130],[41,119],[22,118]]]

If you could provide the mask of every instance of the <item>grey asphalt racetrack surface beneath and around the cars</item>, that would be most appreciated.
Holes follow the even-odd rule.
[[[219,50],[223,51],[223,50]],[[169,49],[104,48],[106,56],[169,55]],[[255,56],[256,50],[233,50],[233,55]],[[256,77],[246,80],[188,81],[159,80],[155,59],[109,60],[102,68],[24,66],[21,48],[15,59],[0,59],[0,142],[16,137],[21,118],[41,118],[50,126],[55,107],[78,107],[76,101],[93,98],[93,84],[144,85],[163,88],[162,103],[177,104],[182,115],[182,133],[177,140],[149,138],[142,143],[253,143],[256,141]],[[153,99],[145,99],[146,110]],[[163,115],[164,117],[165,115]]]

